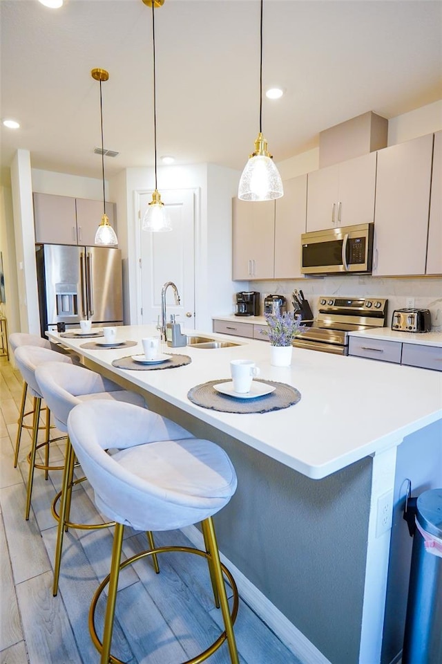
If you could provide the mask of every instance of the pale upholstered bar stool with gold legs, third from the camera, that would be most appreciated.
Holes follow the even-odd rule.
[[[37,444],[37,438],[39,433],[39,418],[41,411],[41,393],[39,391],[39,385],[35,379],[35,369],[38,365],[41,365],[43,362],[55,362],[57,364],[64,363],[66,365],[72,365],[73,360],[66,355],[57,353],[57,351],[52,351],[46,347],[40,346],[19,346],[15,349],[14,353],[15,362],[17,367],[23,376],[23,380],[27,383],[30,393],[35,398],[34,401],[34,416],[32,418],[32,442],[30,455],[28,457],[29,461],[29,475],[28,475],[28,486],[26,490],[26,510],[25,510],[25,519],[28,521],[29,512],[30,512],[30,501],[32,496],[32,483],[34,481],[34,470],[35,468],[40,468],[45,471],[45,479],[48,479],[49,470],[63,470],[64,465],[49,465],[49,427],[50,427],[50,409],[47,409],[46,412],[46,438],[45,442],[40,445]],[[52,441],[53,442],[53,441]],[[17,466],[17,460],[19,456],[19,443],[20,438],[17,435],[17,445],[15,449],[15,466]],[[45,461],[43,464],[35,463],[35,457],[37,450],[41,447],[45,448]]]

